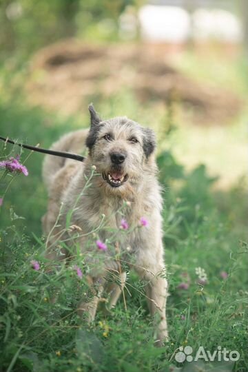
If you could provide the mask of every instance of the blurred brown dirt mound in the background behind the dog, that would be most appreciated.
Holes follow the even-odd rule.
[[[228,123],[242,102],[232,92],[196,83],[169,64],[164,48],[151,45],[89,45],[66,40],[40,50],[32,61],[28,95],[32,103],[70,115],[91,96],[131,87],[138,100],[179,101],[195,123]]]

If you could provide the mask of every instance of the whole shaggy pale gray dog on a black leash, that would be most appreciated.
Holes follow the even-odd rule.
[[[126,254],[131,256],[130,267],[146,282],[149,311],[152,316],[158,314],[156,340],[161,344],[167,338],[167,280],[154,132],[125,116],[101,120],[92,105],[89,110],[90,130],[69,133],[52,146],[56,150],[82,152],[86,145],[85,161],[45,157],[43,179],[49,194],[48,212],[43,217],[43,230],[48,236],[46,256],[52,260],[64,258],[61,251],[63,255],[68,255],[68,251],[61,248],[58,253],[57,243],[63,238],[70,245],[70,239],[65,237],[70,237],[72,229],[80,231],[76,242],[92,264],[88,282],[94,296],[79,304],[79,313],[87,314],[88,321],[94,320],[104,290],[110,293],[109,307],[114,307],[125,287],[126,275],[121,260],[116,260],[116,252],[124,258],[123,262]],[[92,169],[96,171],[93,176]],[[65,229],[68,214],[70,231]],[[123,218],[129,226],[127,234],[121,234]],[[147,220],[146,226],[142,226],[142,218]],[[113,231],[119,231],[114,235],[114,252],[99,252],[95,245],[87,243],[94,231],[102,242],[113,241]],[[107,283],[106,273],[110,272],[118,273],[118,284]]]

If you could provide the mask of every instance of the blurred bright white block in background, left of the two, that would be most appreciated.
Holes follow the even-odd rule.
[[[139,10],[138,19],[145,40],[183,43],[189,37],[190,17],[183,8],[146,5]]]

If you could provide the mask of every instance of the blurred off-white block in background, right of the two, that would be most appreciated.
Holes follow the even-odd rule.
[[[193,13],[193,36],[196,40],[242,41],[242,26],[227,10],[198,9]]]

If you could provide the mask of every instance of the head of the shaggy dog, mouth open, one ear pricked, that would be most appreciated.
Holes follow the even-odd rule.
[[[93,105],[89,110],[86,145],[102,185],[116,193],[139,183],[156,147],[154,132],[125,116],[102,121]]]

